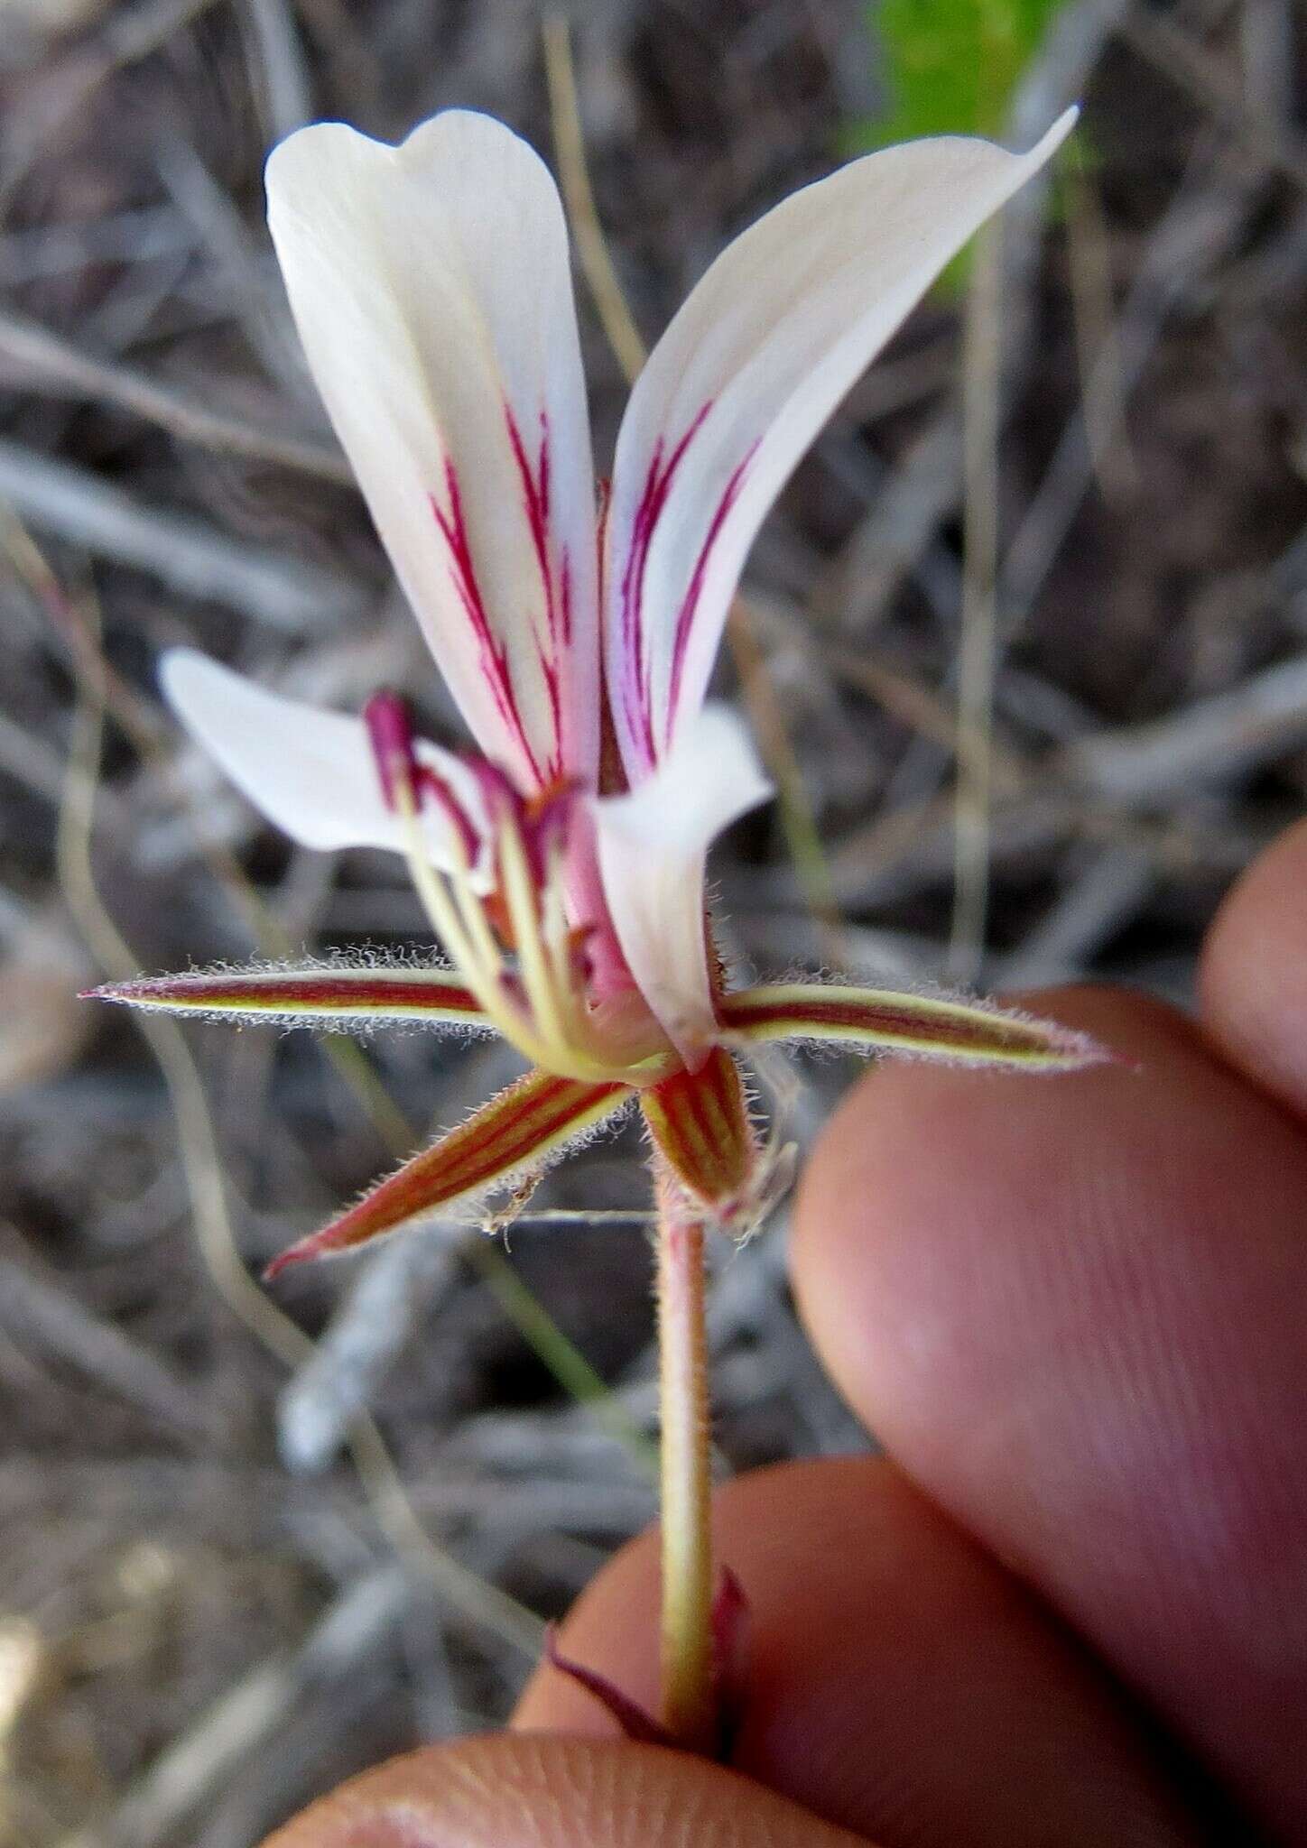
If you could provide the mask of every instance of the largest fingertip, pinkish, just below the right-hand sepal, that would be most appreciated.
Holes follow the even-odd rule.
[[[873,1074],[808,1166],[799,1305],[926,1493],[1301,1831],[1307,1140],[1157,1003],[1039,1007],[1141,1072]]]

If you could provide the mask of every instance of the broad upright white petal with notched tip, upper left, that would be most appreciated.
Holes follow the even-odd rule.
[[[523,789],[593,778],[593,469],[549,170],[471,111],[268,161],[309,366],[440,671]]]

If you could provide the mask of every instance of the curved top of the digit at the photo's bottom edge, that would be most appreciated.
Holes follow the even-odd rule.
[[[488,1733],[342,1783],[264,1848],[867,1848],[734,1770],[660,1746]]]

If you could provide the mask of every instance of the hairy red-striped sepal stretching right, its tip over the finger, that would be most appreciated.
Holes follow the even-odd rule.
[[[893,989],[763,983],[721,996],[717,1007],[725,1033],[738,1040],[839,1040],[873,1053],[1026,1072],[1074,1072],[1111,1059],[1087,1033],[1056,1020]]]

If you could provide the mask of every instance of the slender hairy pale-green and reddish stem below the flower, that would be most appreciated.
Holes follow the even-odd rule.
[[[662,1722],[714,1752],[708,1332],[704,1229],[658,1183],[658,1392],[662,1408]]]

